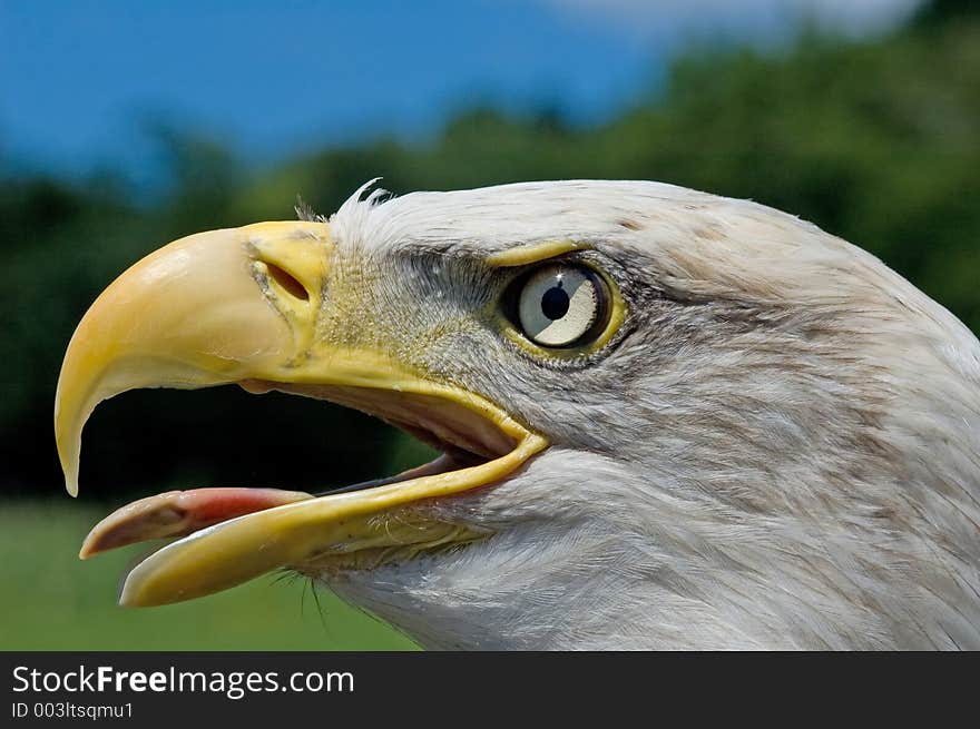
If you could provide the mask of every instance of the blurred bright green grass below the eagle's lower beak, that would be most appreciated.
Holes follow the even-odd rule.
[[[2,650],[409,650],[390,627],[307,581],[267,575],[187,603],[116,605],[145,546],[81,562],[78,548],[108,513],[67,496],[0,502]]]

